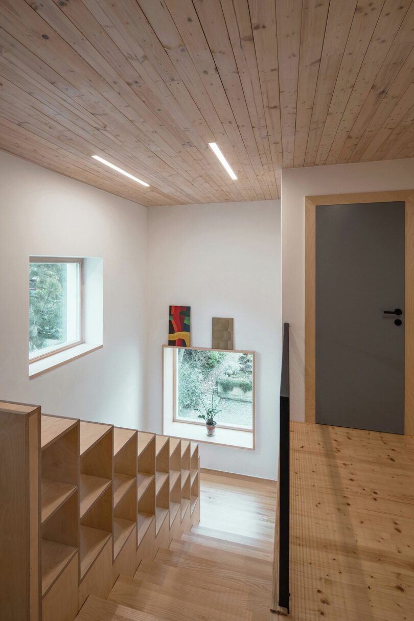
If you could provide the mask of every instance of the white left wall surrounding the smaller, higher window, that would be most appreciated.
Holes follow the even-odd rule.
[[[0,152],[1,399],[145,427],[146,211]],[[104,347],[30,380],[29,255],[104,260]]]

